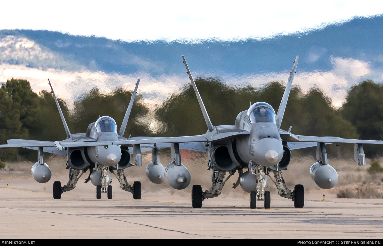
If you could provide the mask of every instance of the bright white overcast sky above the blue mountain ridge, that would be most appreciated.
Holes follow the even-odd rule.
[[[113,40],[245,39],[383,13],[383,1],[3,1],[0,29]]]

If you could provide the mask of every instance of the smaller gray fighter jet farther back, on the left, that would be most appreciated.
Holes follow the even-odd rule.
[[[49,79],[48,79],[49,81]],[[61,186],[60,181],[53,184],[54,199],[61,199],[61,194],[76,187],[79,178],[89,169],[89,176],[85,183],[91,181],[96,186],[96,197],[101,198],[101,193],[107,193],[108,199],[112,199],[112,186],[110,185],[111,176],[114,174],[120,183],[121,189],[131,192],[134,199],[141,199],[141,182],[135,181],[130,186],[126,180],[124,169],[134,166],[130,163],[131,155],[128,146],[111,145],[111,141],[126,141],[123,137],[129,115],[133,106],[134,98],[139,85],[137,80],[136,88],[133,91],[128,109],[126,110],[121,128],[117,132],[117,125],[114,119],[108,116],[100,117],[96,122],[88,126],[86,133],[71,134],[68,125],[62,114],[56,94],[52,94],[64,124],[67,139],[61,142],[46,142],[36,140],[10,139],[7,145],[0,147],[25,147],[38,150],[38,162],[32,166],[32,175],[40,183],[48,182],[51,179],[51,169],[44,162],[44,152],[67,156],[67,168],[69,169],[69,181]],[[134,148],[134,162],[137,166],[142,166],[140,146]],[[110,173],[109,173],[109,172]],[[117,174],[116,174],[117,173]]]

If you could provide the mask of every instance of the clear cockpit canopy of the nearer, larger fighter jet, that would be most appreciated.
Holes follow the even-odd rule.
[[[258,102],[250,106],[247,116],[251,123],[271,122],[275,124],[275,111],[268,103]]]

